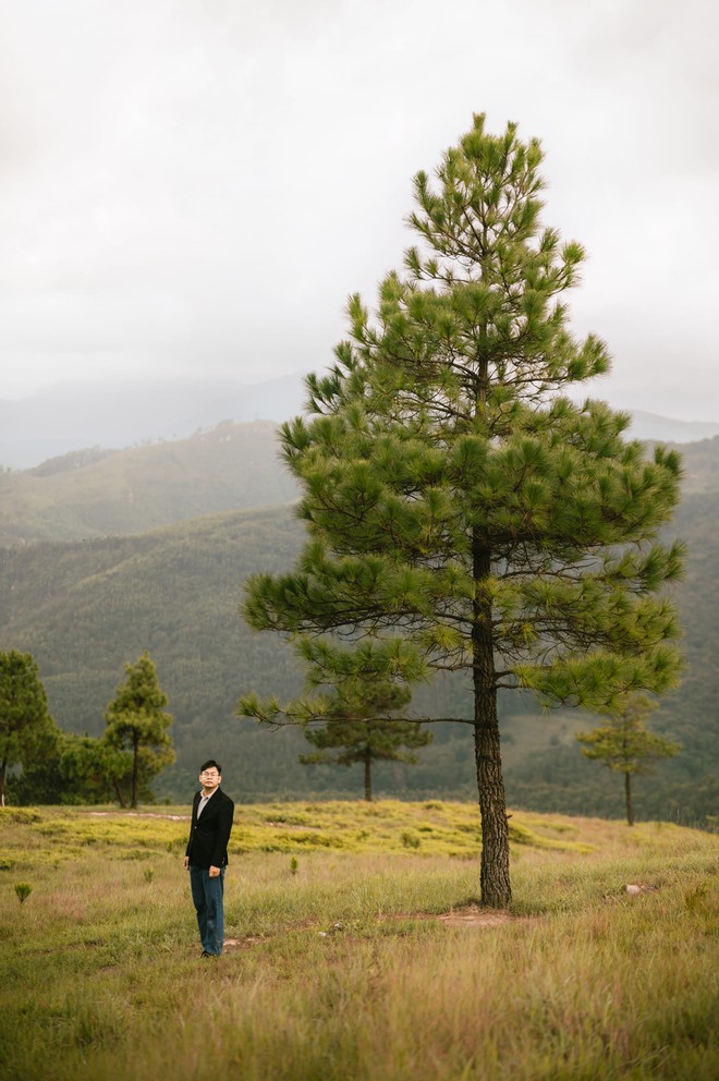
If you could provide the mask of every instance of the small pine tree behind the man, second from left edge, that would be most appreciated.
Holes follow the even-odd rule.
[[[174,762],[167,704],[147,652],[134,665],[125,665],[124,682],[107,708],[105,739],[110,748],[132,753],[131,807],[137,806],[141,784]]]

